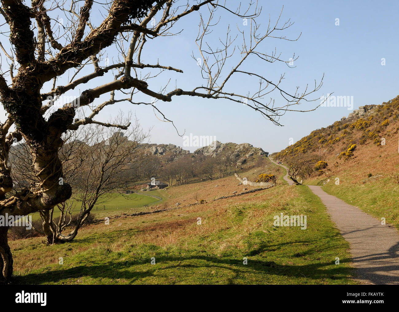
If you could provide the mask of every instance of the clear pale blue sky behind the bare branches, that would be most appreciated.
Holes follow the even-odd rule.
[[[246,3],[242,1],[242,4]],[[280,74],[285,73],[282,84],[285,90],[292,91],[295,86],[302,88],[314,80],[320,81],[324,74],[324,84],[314,95],[319,98],[323,94],[334,92],[336,96],[353,96],[354,109],[365,104],[381,104],[399,94],[397,58],[399,21],[397,12],[399,4],[396,1],[260,1],[263,4],[262,16],[259,19],[262,27],[267,26],[269,14],[272,22],[277,19],[284,5],[281,21],[291,19],[294,25],[284,34],[295,38],[302,35],[298,41],[288,42],[268,39],[262,45],[264,51],[271,52],[277,48],[283,59],[298,56],[293,69],[284,64],[265,63],[251,58],[243,64],[241,70],[255,71],[259,75],[276,81]],[[239,1],[229,0],[228,6],[235,8]],[[215,27],[208,43],[215,47],[217,37],[225,37],[225,30],[230,25],[233,33],[237,33],[236,24],[243,28],[243,21],[225,11],[219,10],[221,21]],[[339,18],[339,26],[336,26]],[[98,25],[100,20],[93,19]],[[184,74],[164,73],[148,84],[152,90],[159,90],[171,78],[168,91],[175,86],[184,90],[192,90],[203,83],[199,67],[191,55],[198,55],[195,38],[198,32],[198,13],[190,14],[176,23],[175,29],[183,29],[174,37],[158,37],[153,42],[147,42],[142,54],[143,63],[157,63],[178,67]],[[249,27],[249,26],[248,26]],[[2,39],[4,44],[4,39]],[[241,41],[237,41],[241,44]],[[115,51],[110,50],[110,59],[115,57]],[[199,55],[198,55],[199,56]],[[385,66],[381,59],[385,58]],[[237,61],[239,55],[232,60]],[[233,62],[234,63],[234,62]],[[231,63],[233,65],[233,63]],[[231,66],[229,67],[229,69]],[[84,71],[82,71],[84,73]],[[93,81],[84,88],[93,88],[103,77]],[[238,76],[227,85],[227,90],[237,93],[247,93],[257,88],[257,79],[247,79]],[[61,84],[61,83],[59,83]],[[75,90],[76,91],[76,90]],[[104,99],[108,96],[103,97]],[[274,94],[276,105],[285,104],[279,94]],[[134,100],[150,101],[148,96],[137,95]],[[265,99],[267,100],[267,99]],[[304,102],[300,109],[317,106]],[[346,107],[320,107],[314,112],[287,112],[280,122],[283,127],[275,126],[249,107],[228,100],[206,100],[194,97],[175,96],[172,102],[157,102],[167,118],[174,121],[180,133],[187,135],[215,137],[222,143],[248,142],[265,151],[280,151],[288,145],[289,139],[294,142],[308,135],[312,130],[328,126],[348,116],[351,112]],[[143,128],[152,127],[151,143],[172,143],[183,145],[183,138],[176,133],[170,123],[161,122],[154,115],[150,106],[132,106],[121,103],[108,107],[98,117],[107,120],[115,115],[117,110],[132,110],[136,113]],[[4,115],[3,115],[4,116]],[[184,147],[194,151],[197,147]]]

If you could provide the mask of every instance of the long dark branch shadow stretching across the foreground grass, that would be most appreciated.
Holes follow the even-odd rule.
[[[65,279],[78,279],[87,277],[91,279],[124,279],[130,284],[140,283],[146,277],[174,277],[178,283],[198,283],[192,279],[193,274],[202,274],[205,269],[223,269],[230,272],[229,278],[223,281],[209,280],[210,283],[235,284],[243,283],[248,274],[274,275],[293,278],[308,278],[319,284],[324,279],[340,280],[351,275],[352,268],[342,265],[332,266],[332,262],[313,263],[308,265],[280,265],[274,261],[248,259],[244,265],[241,259],[229,257],[214,257],[207,255],[189,255],[186,257],[158,256],[156,265],[148,266],[148,261],[112,262],[94,264],[90,266],[79,265],[69,269],[59,269],[42,273],[29,273],[23,277],[15,277],[13,284],[49,284],[58,283]],[[340,262],[350,261],[341,259]],[[137,265],[144,265],[142,270],[137,270]],[[170,274],[170,270],[175,273]],[[184,271],[180,271],[184,270]],[[255,272],[254,272],[255,271]],[[177,274],[176,274],[177,273]],[[184,275],[179,280],[179,275]],[[188,278],[188,279],[187,279]],[[235,279],[240,281],[236,282]],[[263,283],[264,278],[260,277],[258,283]],[[257,283],[256,280],[249,281],[249,284]],[[115,284],[117,284],[115,282]]]

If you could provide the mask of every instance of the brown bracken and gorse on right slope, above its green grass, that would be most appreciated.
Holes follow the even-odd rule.
[[[318,154],[321,147],[320,160],[328,163],[326,173],[337,174],[355,165],[354,181],[364,178],[365,172],[393,173],[397,170],[399,96],[375,106],[371,112],[314,130],[274,157],[288,161],[299,153]],[[340,157],[342,153],[346,155]]]

